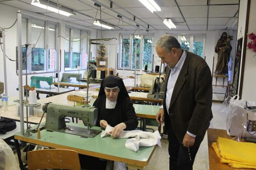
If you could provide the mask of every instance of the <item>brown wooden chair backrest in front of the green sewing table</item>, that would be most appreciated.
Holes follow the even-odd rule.
[[[27,153],[29,170],[68,169],[80,170],[78,152],[63,149],[34,150]]]

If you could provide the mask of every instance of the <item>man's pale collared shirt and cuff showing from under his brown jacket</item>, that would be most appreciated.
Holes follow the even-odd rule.
[[[184,61],[186,59],[187,56],[187,52],[185,50],[183,50],[183,53],[181,55],[180,60],[178,61],[178,63],[176,64],[176,66],[174,66],[174,68],[170,68],[170,75],[169,75],[169,79],[168,79],[168,83],[167,83],[167,91],[166,91],[166,99],[165,99],[165,104],[166,104],[166,109],[167,112],[169,114],[169,107],[170,107],[170,102],[171,102],[171,96],[174,90],[174,86],[176,84],[176,81],[178,79],[178,75],[181,72],[181,68],[184,64]],[[163,105],[160,107],[160,109],[163,109]],[[173,113],[171,113],[173,114]],[[196,137],[196,135],[191,134],[189,131],[187,131],[187,134],[189,134],[192,137]]]

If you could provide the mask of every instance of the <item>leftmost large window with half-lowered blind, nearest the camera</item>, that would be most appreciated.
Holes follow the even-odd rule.
[[[43,73],[55,71],[57,25],[50,21],[22,18],[22,57],[23,73]],[[25,44],[29,45],[25,48]],[[16,50],[17,51],[17,50]],[[16,55],[17,56],[17,55]],[[18,59],[18,56],[16,57]],[[18,63],[18,61],[17,61]],[[18,70],[18,64],[16,64]],[[18,71],[17,71],[18,73]]]

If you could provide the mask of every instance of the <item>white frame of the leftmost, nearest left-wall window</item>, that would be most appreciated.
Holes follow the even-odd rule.
[[[39,22],[43,22],[43,19],[38,19],[38,18],[34,18],[32,16],[27,16],[27,15],[24,15],[22,18],[25,18],[26,19],[26,22],[27,22],[27,27],[26,27],[26,33],[27,33],[27,37],[26,37],[26,43],[28,44],[31,44],[32,43],[32,19],[34,20],[40,20]],[[55,30],[55,70],[54,69],[50,69],[48,68],[48,57],[49,57],[49,54],[48,54],[48,50],[50,48],[48,48],[48,41],[49,41],[49,24],[52,24],[52,25],[55,25],[56,26],[56,30]],[[59,30],[59,23],[55,23],[53,21],[49,21],[49,20],[44,20],[44,70],[40,70],[40,71],[32,71],[32,54],[30,54],[30,52],[32,51],[32,47],[28,47],[27,48],[27,54],[30,54],[28,57],[27,57],[27,74],[40,74],[40,73],[53,73],[53,72],[56,72],[57,71],[57,35],[58,35],[58,30]],[[37,46],[36,46],[37,48]],[[17,57],[16,57],[17,58]],[[18,60],[16,61],[18,62]],[[61,70],[61,59],[59,61],[59,68]],[[22,70],[22,74],[26,74],[25,73],[26,70]],[[18,75],[18,65],[16,64],[16,74]]]

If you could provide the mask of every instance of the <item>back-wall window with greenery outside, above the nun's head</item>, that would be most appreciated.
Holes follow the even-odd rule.
[[[118,69],[134,70],[151,69],[152,64],[152,41],[153,36],[149,34],[123,34],[120,36],[122,42],[119,50]]]

